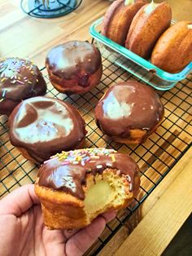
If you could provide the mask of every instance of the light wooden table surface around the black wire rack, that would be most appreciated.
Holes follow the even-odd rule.
[[[190,0],[170,0],[168,2],[172,6],[174,19],[189,20],[191,18],[192,2]],[[41,68],[44,66],[46,52],[50,47],[72,39],[88,39],[89,25],[104,14],[109,4],[110,2],[104,0],[84,0],[81,7],[69,15],[54,20],[40,20],[25,15],[20,10],[18,0],[1,0],[0,56],[29,58]],[[172,91],[177,93],[176,90],[173,89]],[[179,93],[182,92],[181,90],[178,91]],[[189,88],[185,89],[185,94],[190,93]],[[168,93],[165,95],[168,97]],[[173,103],[177,104],[178,99],[173,100]],[[166,104],[166,98],[164,98],[164,104]],[[188,100],[188,104],[191,104],[191,101]],[[190,123],[191,108],[188,109],[189,111],[185,113],[184,117]],[[172,121],[177,121],[173,118],[175,117],[172,117]],[[182,122],[184,121],[181,121],[181,124]],[[187,126],[187,131],[191,135],[190,126]],[[6,140],[7,133],[3,134],[1,139]],[[189,135],[181,139],[186,139],[188,143],[191,142]],[[164,146],[164,143],[160,144],[161,147],[162,145]],[[180,145],[176,144],[175,148],[177,147],[179,148]],[[11,152],[16,153],[14,148],[11,150],[13,150]],[[174,148],[171,153],[173,156],[176,153]],[[159,156],[164,157],[162,150]],[[6,155],[6,157],[9,156]],[[149,157],[148,160],[150,161],[150,159]],[[23,161],[23,159],[19,158],[18,161]],[[14,168],[14,163],[11,165],[10,168]],[[26,168],[29,168],[29,165],[27,163]],[[154,192],[147,197],[142,207],[139,207],[139,210],[129,219],[128,226],[120,228],[100,255],[116,254],[121,256],[128,255],[128,252],[129,255],[161,254],[192,211],[191,166],[192,148],[185,152],[177,165],[169,171]],[[155,168],[160,170],[161,167],[155,163]],[[3,174],[3,166],[1,169]],[[18,177],[20,175],[19,173]],[[24,183],[28,183],[28,181],[26,180]],[[15,188],[16,186],[12,189]],[[0,187],[0,191],[1,189]],[[133,230],[136,225],[137,227]],[[132,230],[133,232],[131,232]],[[131,232],[129,236],[128,231]]]

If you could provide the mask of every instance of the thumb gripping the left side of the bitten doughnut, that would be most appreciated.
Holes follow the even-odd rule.
[[[39,200],[34,192],[34,185],[28,184],[15,189],[0,201],[0,214],[14,214],[19,217],[32,205],[39,204]]]

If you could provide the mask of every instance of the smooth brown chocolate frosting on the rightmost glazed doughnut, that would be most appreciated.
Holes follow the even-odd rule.
[[[150,86],[123,82],[111,86],[95,108],[95,118],[103,133],[129,138],[130,130],[152,133],[164,117],[164,106]]]

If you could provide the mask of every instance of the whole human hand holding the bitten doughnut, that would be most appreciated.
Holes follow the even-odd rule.
[[[82,255],[115,216],[115,212],[103,214],[88,227],[72,232],[48,230],[34,185],[25,185],[0,201],[0,255]]]

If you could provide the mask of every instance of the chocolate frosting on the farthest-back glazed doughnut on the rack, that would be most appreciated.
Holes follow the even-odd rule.
[[[46,67],[56,76],[67,80],[79,76],[82,71],[87,75],[95,73],[100,65],[100,51],[89,42],[65,42],[52,48],[46,56]]]

